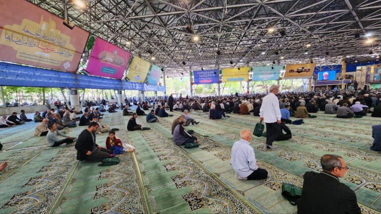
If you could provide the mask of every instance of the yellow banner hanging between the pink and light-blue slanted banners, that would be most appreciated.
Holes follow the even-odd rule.
[[[147,77],[151,63],[137,57],[132,57],[132,62],[129,66],[126,80],[137,83],[144,83]]]

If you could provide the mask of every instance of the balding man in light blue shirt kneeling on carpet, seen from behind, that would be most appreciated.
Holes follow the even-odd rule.
[[[250,146],[252,133],[245,129],[241,131],[241,140],[235,142],[232,148],[231,164],[239,180],[266,179],[268,172],[260,169],[256,163],[254,149]]]

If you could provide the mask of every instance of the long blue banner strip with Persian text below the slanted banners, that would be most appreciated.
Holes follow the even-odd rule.
[[[0,86],[145,90],[145,84],[0,62]],[[165,91],[164,86],[150,90]]]

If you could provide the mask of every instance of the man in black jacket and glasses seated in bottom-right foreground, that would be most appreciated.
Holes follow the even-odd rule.
[[[320,164],[322,172],[303,175],[298,214],[361,214],[355,192],[339,180],[348,170],[344,160],[327,154],[320,158]]]

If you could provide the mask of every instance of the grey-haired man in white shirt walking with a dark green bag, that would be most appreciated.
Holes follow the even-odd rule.
[[[278,86],[270,86],[270,93],[263,97],[262,105],[259,109],[259,119],[266,123],[267,135],[265,145],[267,149],[272,149],[272,142],[274,142],[282,132],[279,126],[282,114],[279,109],[278,97],[276,97],[278,90]]]

